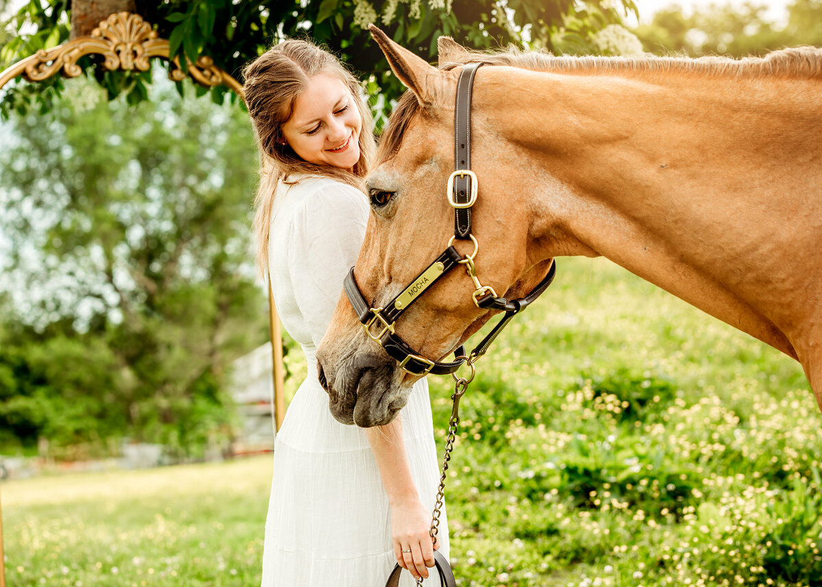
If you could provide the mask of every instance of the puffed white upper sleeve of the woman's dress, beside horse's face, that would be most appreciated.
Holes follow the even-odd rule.
[[[345,275],[357,261],[367,221],[363,192],[338,182],[321,183],[294,214],[289,276],[315,347],[326,334]]]

